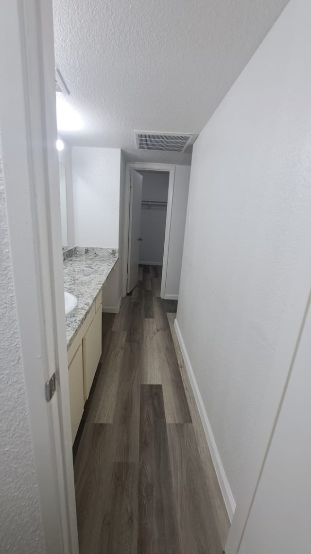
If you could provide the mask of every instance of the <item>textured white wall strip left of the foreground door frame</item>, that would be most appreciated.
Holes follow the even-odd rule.
[[[20,359],[0,150],[0,551],[43,554],[43,527]]]

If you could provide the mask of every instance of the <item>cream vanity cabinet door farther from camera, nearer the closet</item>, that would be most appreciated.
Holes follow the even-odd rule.
[[[84,399],[89,397],[94,375],[101,357],[101,310],[95,314],[83,338]]]

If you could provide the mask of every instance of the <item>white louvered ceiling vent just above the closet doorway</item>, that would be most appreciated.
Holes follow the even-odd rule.
[[[189,133],[158,133],[135,131],[138,150],[161,150],[165,152],[184,152],[193,135]]]

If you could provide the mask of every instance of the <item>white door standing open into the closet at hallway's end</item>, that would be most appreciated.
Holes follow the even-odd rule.
[[[138,282],[139,244],[141,237],[143,178],[137,171],[131,171],[131,193],[129,196],[129,234],[127,260],[127,292],[130,293]]]

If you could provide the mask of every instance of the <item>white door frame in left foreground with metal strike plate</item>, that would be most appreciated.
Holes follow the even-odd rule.
[[[64,309],[51,0],[4,0],[3,178],[45,552],[78,554]],[[13,75],[13,77],[12,77]],[[18,162],[17,162],[18,160]],[[56,392],[45,383],[56,372]]]

